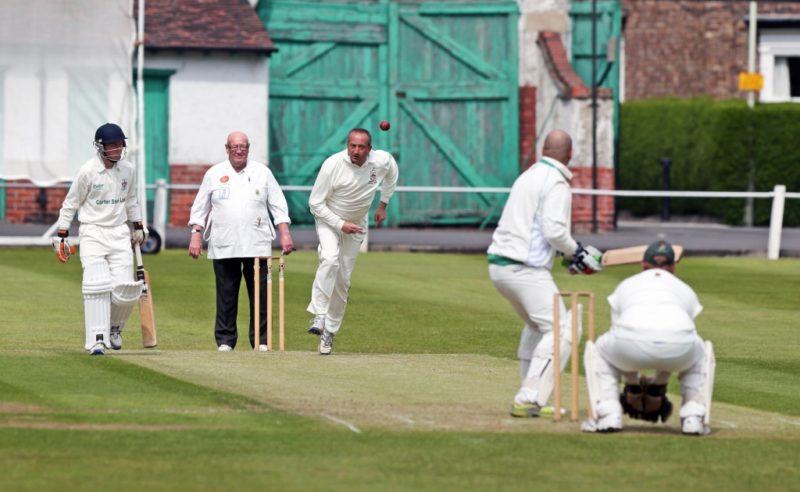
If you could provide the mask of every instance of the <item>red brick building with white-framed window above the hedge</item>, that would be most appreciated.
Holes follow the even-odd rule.
[[[740,97],[738,75],[747,71],[747,1],[621,0],[623,100],[708,95]],[[800,2],[759,1],[758,60],[764,75],[761,100],[798,97],[800,86]],[[776,70],[777,68],[777,70]],[[787,70],[788,69],[788,70]],[[797,70],[797,76],[791,77]],[[794,79],[797,79],[796,81]],[[777,89],[777,91],[776,91]]]

